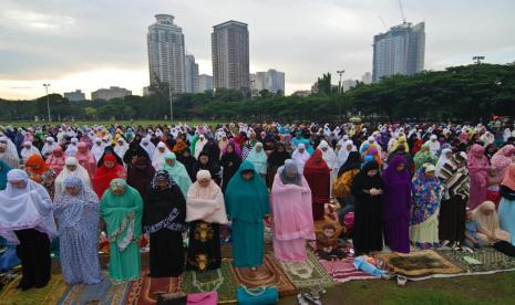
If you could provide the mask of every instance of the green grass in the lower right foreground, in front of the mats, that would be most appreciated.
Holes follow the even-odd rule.
[[[352,281],[328,290],[323,304],[515,304],[515,272],[408,282]],[[295,297],[280,304],[297,304]]]

